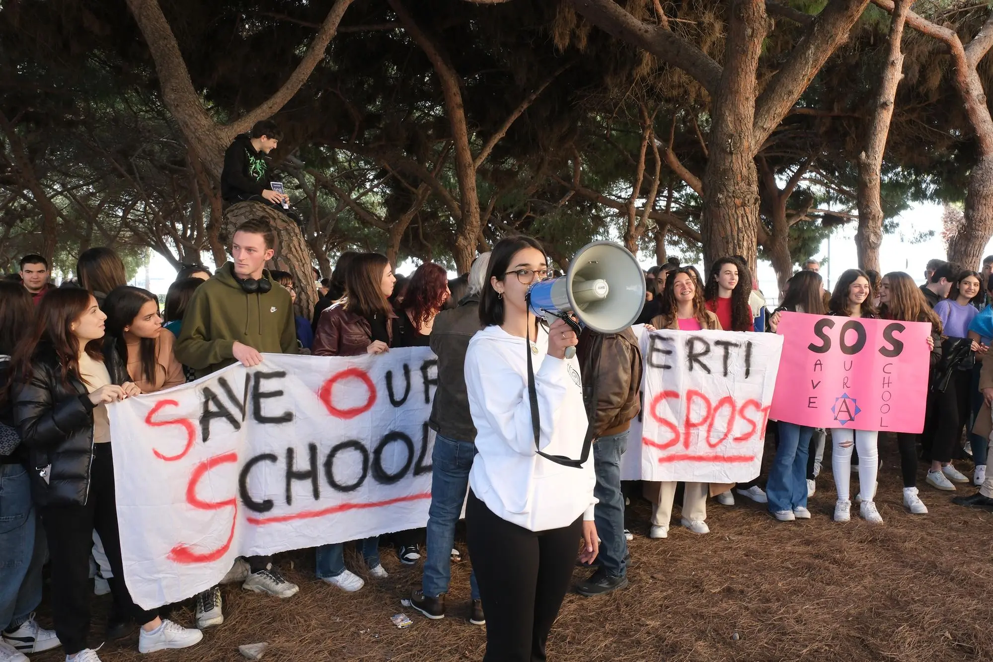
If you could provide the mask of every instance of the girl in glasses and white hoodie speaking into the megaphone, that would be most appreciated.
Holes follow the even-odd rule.
[[[570,460],[581,446],[589,453],[579,362],[566,358],[576,333],[563,320],[539,325],[526,302],[531,285],[547,274],[536,240],[500,240],[480,301],[484,328],[466,353],[478,431],[466,526],[487,614],[484,660],[545,659],[576,540],[584,540],[584,563],[599,546],[593,462]]]

